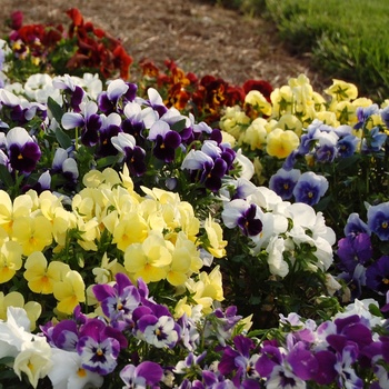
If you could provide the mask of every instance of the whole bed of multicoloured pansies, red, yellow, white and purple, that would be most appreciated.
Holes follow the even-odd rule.
[[[1,48],[1,383],[387,387],[388,101],[130,82],[68,14]]]

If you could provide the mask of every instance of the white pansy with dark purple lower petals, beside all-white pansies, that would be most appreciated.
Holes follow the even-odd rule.
[[[239,227],[247,237],[258,236],[262,231],[262,211],[255,205],[242,199],[235,199],[225,205],[221,218],[228,228]]]

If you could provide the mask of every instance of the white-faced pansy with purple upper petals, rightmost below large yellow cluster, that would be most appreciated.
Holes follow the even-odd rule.
[[[173,348],[180,337],[180,327],[170,316],[144,315],[137,325],[142,339],[157,348]]]

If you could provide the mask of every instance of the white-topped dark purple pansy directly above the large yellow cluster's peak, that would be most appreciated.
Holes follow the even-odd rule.
[[[122,153],[131,174],[142,176],[147,170],[146,151],[136,144],[136,139],[129,133],[119,132],[117,137],[111,138],[111,142]]]

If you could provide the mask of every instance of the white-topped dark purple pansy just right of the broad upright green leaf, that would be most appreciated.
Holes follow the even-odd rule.
[[[98,106],[94,101],[88,101],[82,108],[82,113],[66,112],[61,124],[66,130],[80,128],[82,144],[94,146],[99,141],[99,130],[102,126],[101,117],[97,113]]]

